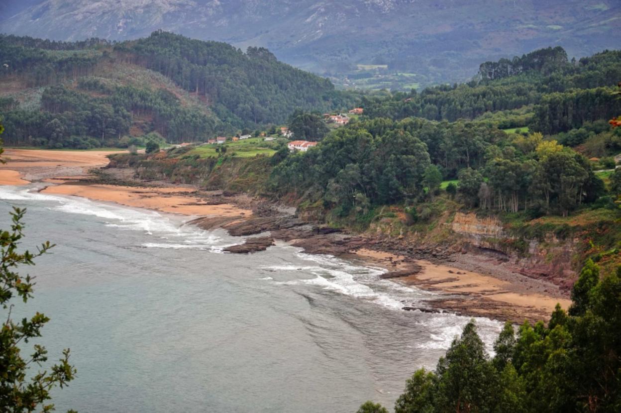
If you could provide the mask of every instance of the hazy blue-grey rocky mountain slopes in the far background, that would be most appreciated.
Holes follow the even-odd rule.
[[[621,34],[612,0],[9,0],[0,7],[0,32],[9,34],[126,40],[163,29],[244,50],[268,47],[336,79],[376,70],[408,73],[412,84],[465,80],[481,61],[540,47],[561,45],[581,57],[618,47]]]

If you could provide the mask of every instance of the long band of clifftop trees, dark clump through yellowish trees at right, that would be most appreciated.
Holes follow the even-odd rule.
[[[584,156],[541,134],[507,135],[478,122],[416,118],[338,129],[317,148],[279,163],[271,188],[324,202],[346,216],[360,211],[356,206],[424,202],[434,189],[432,174],[440,181],[458,178],[460,197],[470,207],[499,211],[566,215],[605,195]]]

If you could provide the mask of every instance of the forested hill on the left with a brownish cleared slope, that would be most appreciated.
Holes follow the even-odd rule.
[[[0,61],[9,145],[126,146],[150,132],[195,142],[355,101],[264,48],[165,32],[114,44],[3,35]]]

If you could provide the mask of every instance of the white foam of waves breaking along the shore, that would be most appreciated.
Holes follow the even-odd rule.
[[[222,237],[213,232],[206,232],[191,225],[183,225],[178,217],[170,217],[155,211],[146,211],[129,207],[107,204],[104,202],[89,201],[81,197],[54,196],[42,194],[32,187],[0,186],[0,199],[7,201],[43,201],[49,204],[48,208],[67,214],[81,214],[95,216],[105,225],[120,230],[141,231],[153,235],[154,242],[143,243],[145,248],[170,248],[188,250],[207,250],[212,253],[224,253],[224,248],[230,245]],[[390,309],[401,309],[404,303],[411,304],[420,299],[432,298],[437,295],[417,288],[410,288],[392,281],[381,279],[379,276],[386,270],[363,265],[355,265],[329,255],[309,255],[297,252],[296,256],[306,264],[302,265],[274,265],[263,268],[266,271],[304,271],[311,273],[314,278],[297,279],[276,284],[317,286],[339,294],[358,297]],[[267,276],[261,278],[273,281]],[[415,346],[428,349],[445,349],[453,338],[461,334],[463,325],[468,317],[454,314],[434,314],[424,317],[420,323],[424,324],[430,334],[428,340],[417,343]],[[501,324],[494,320],[478,318],[479,334],[487,350],[492,351],[491,343],[497,337]]]

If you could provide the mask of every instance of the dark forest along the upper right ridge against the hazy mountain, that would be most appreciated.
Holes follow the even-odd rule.
[[[535,105],[533,110],[538,116],[532,127],[550,134],[579,127],[582,122],[607,119],[610,112],[621,112],[621,102],[607,96],[612,89],[603,89],[621,79],[621,51],[605,51],[568,63],[564,51],[558,49],[530,53],[522,63],[516,62],[515,70],[509,70],[507,76],[436,86],[421,93],[394,93],[389,98],[365,97],[362,106],[369,117],[404,119],[414,116],[453,122],[475,119],[487,112],[515,111]],[[539,56],[548,52],[550,58]],[[561,110],[550,109],[555,101],[563,104]],[[514,117],[514,120],[514,124],[503,127],[528,125],[520,121],[530,123],[527,117]]]

